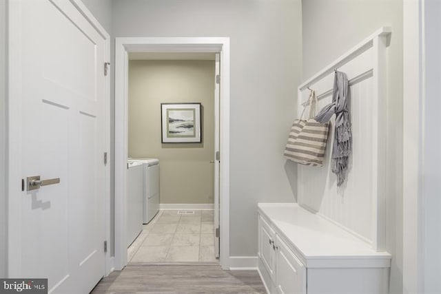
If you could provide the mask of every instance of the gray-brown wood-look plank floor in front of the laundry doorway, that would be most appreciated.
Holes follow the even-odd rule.
[[[91,292],[101,293],[266,293],[257,271],[223,271],[218,264],[129,264]]]

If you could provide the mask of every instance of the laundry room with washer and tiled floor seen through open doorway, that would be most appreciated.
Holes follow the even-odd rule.
[[[214,53],[129,55],[129,262],[216,261],[215,59]],[[157,178],[151,175],[152,165]],[[136,169],[144,170],[144,179],[136,176]],[[158,191],[152,191],[155,181]]]

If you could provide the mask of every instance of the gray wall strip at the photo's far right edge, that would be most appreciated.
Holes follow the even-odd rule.
[[[425,1],[424,293],[441,293],[441,2]]]

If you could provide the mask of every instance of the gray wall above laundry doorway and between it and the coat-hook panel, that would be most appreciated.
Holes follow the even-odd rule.
[[[230,255],[256,256],[257,202],[294,202],[283,149],[296,114],[301,3],[114,0],[114,36],[229,36]]]

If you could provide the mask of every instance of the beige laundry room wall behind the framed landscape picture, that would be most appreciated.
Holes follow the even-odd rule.
[[[161,143],[161,103],[202,103],[202,143]],[[130,61],[129,156],[159,158],[161,203],[213,203],[214,61]]]

